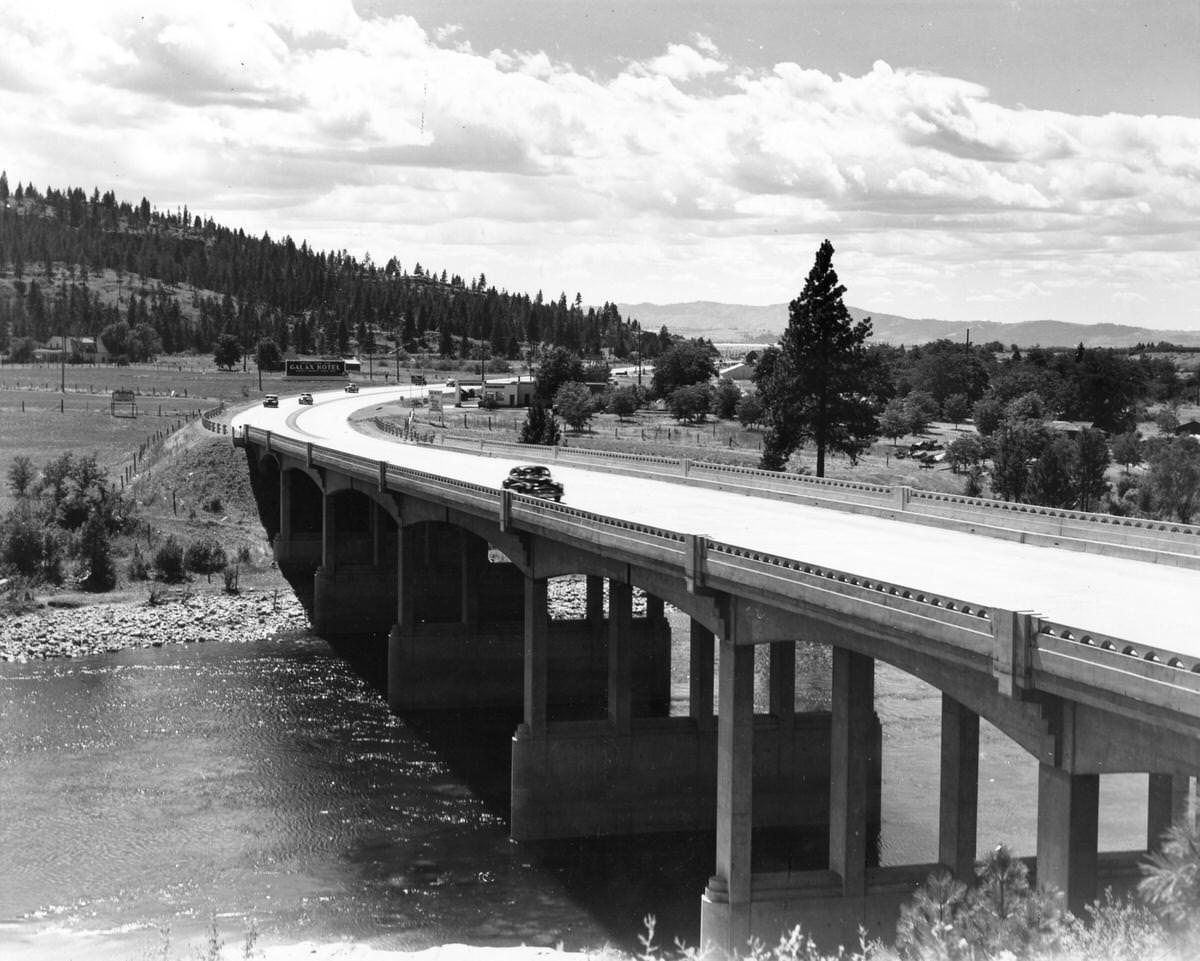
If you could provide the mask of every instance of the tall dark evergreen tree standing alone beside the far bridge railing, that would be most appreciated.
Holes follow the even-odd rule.
[[[857,457],[875,438],[870,361],[870,319],[857,324],[842,304],[846,288],[833,269],[833,244],[817,251],[800,295],[787,308],[787,329],[768,348],[755,372],[766,410],[762,467],[782,470],[808,440],[817,449],[818,478],[826,451]]]

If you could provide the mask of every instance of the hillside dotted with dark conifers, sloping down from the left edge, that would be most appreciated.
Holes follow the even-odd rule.
[[[414,258],[384,265],[346,251],[314,251],[292,238],[242,230],[181,210],[162,211],[112,191],[38,191],[0,174],[0,350],[14,338],[98,336],[120,323],[152,331],[164,353],[212,349],[230,334],[269,338],[299,354],[343,354],[394,335],[409,352],[515,359],[541,342],[584,355],[625,358],[661,349],[605,304],[578,294],[545,300],[509,293],[481,274],[464,280]]]

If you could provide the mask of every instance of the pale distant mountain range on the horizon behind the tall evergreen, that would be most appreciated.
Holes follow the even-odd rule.
[[[697,300],[690,304],[618,304],[628,319],[637,319],[646,330],[666,325],[672,334],[707,337],[718,343],[774,343],[787,326],[787,305],[752,307],[743,304],[715,304]],[[1133,347],[1136,343],[1168,341],[1184,347],[1200,347],[1200,331],[1153,330],[1122,324],[1068,324],[1062,320],[1025,320],[1001,324],[995,320],[936,320],[899,317],[850,307],[858,319],[871,318],[874,338],[892,344],[929,343],[938,338],[972,343],[1000,341],[1008,347]]]

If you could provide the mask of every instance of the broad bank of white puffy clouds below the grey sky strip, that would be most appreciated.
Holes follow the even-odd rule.
[[[882,61],[756,70],[702,35],[600,77],[349,0],[70,17],[50,0],[7,25],[13,181],[257,216],[512,288],[560,272],[545,286],[595,299],[786,300],[827,235],[854,302],[893,299],[876,310],[972,298],[1111,319],[1097,312],[1126,316],[1164,277],[1150,306],[1180,314],[1198,293],[1195,118],[1030,110]]]

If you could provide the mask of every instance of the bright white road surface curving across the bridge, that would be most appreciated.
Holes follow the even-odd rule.
[[[364,436],[350,413],[420,388],[314,395],[313,407],[281,397],[234,419],[402,467],[497,488],[522,461],[480,457]],[[536,462],[530,449],[524,462]],[[779,500],[554,466],[563,503],[986,607],[1034,611],[1049,620],[1159,650],[1200,656],[1200,571],[1010,543],[955,530],[842,513]]]

